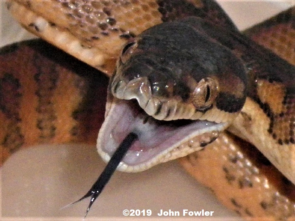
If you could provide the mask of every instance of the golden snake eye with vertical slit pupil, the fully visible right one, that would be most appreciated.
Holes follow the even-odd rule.
[[[199,81],[193,92],[193,105],[198,110],[209,108],[218,94],[218,83],[215,79],[206,78]]]

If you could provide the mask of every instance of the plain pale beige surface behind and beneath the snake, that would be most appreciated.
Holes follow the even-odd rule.
[[[293,0],[219,2],[240,29],[295,3]],[[31,36],[11,21],[0,2],[0,46],[28,37]],[[104,166],[95,147],[90,146],[42,146],[19,151],[0,169],[0,220],[82,220],[88,199],[60,209],[83,196]],[[124,209],[150,209],[154,219],[159,219],[160,209],[204,209],[214,211],[215,220],[239,219],[220,205],[209,190],[189,177],[176,161],[138,174],[116,172],[87,220],[129,219],[122,215]]]

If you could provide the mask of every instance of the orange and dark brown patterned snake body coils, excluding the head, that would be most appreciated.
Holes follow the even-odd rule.
[[[114,2],[9,1],[8,8],[31,32],[109,76],[122,45],[161,22],[199,16],[237,31],[212,1]],[[31,11],[38,12],[39,17]],[[102,18],[99,22],[98,17]],[[289,64],[277,57],[270,58],[278,65],[273,70],[282,73],[259,73],[260,67],[252,63],[251,57],[243,57],[237,49],[236,55],[247,61],[250,82],[256,85],[250,85],[246,104],[228,132],[221,133],[214,142],[206,141],[202,151],[180,159],[188,172],[210,187],[225,205],[246,217],[294,219],[294,17],[294,10],[290,9],[246,32]],[[19,72],[15,64],[9,67],[10,72],[6,71],[7,65],[1,70],[0,117],[1,122],[5,122],[0,133],[2,162],[20,147],[36,142],[93,141],[97,136],[95,128],[100,127],[102,119],[101,115],[95,116],[99,113],[95,111],[96,105],[103,102],[93,99],[102,93],[93,88],[103,88],[93,70],[85,77],[68,71],[79,70],[75,64],[67,70],[43,65],[42,62],[54,61],[44,61],[42,56],[29,52],[27,44],[20,49],[3,49],[2,54],[9,60],[9,56],[25,53],[22,50],[28,50],[27,54],[33,56],[28,56],[28,61],[33,59],[38,63],[28,71],[30,75]],[[269,52],[261,51],[269,56]],[[25,63],[22,55],[19,60]],[[1,62],[8,63],[4,59]],[[31,103],[23,102],[26,100]],[[29,112],[35,114],[27,115]]]

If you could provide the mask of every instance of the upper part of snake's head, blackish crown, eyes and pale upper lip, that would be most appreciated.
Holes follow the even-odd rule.
[[[157,120],[220,123],[242,109],[245,76],[242,62],[228,48],[188,23],[171,22],[126,44],[111,92],[119,99],[136,99]]]

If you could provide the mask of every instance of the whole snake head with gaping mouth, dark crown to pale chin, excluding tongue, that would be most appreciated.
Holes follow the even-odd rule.
[[[242,109],[244,76],[228,48],[186,22],[144,31],[117,61],[98,152],[108,161],[136,133],[138,141],[119,166],[136,172],[202,149]]]

